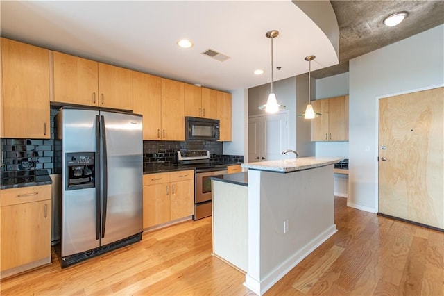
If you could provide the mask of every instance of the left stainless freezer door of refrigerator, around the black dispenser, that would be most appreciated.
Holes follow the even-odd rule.
[[[65,154],[96,151],[96,116],[92,110],[60,111],[62,126],[62,170],[66,167]],[[69,256],[99,247],[96,235],[96,188],[66,190],[62,174],[61,252]],[[97,186],[97,183],[96,183]]]

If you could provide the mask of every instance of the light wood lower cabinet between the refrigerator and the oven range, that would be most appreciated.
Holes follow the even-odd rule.
[[[194,170],[144,175],[144,229],[193,215]]]

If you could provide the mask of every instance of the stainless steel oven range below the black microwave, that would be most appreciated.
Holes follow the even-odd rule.
[[[178,151],[178,165],[194,168],[194,220],[209,217],[211,207],[211,176],[227,174],[227,165],[210,162],[210,151]]]

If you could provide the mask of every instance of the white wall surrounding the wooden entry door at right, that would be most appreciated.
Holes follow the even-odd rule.
[[[350,60],[348,205],[377,211],[377,97],[444,83],[444,25]]]

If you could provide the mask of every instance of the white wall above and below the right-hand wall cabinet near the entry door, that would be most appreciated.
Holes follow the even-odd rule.
[[[316,99],[348,94],[348,80],[348,73],[316,79]],[[348,142],[316,142],[316,156],[348,158]]]

